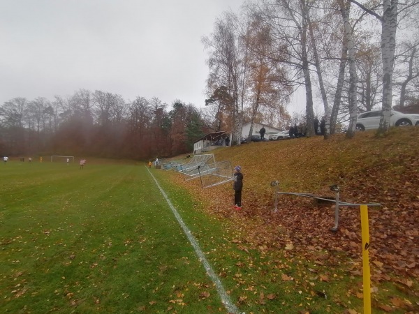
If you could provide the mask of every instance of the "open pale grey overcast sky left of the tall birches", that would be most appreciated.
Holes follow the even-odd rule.
[[[0,104],[108,91],[204,104],[201,43],[244,0],[0,0]]]

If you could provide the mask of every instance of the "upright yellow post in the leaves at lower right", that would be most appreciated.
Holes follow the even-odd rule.
[[[369,225],[368,207],[361,205],[362,270],[364,283],[364,314],[371,314],[371,274],[369,271]]]

